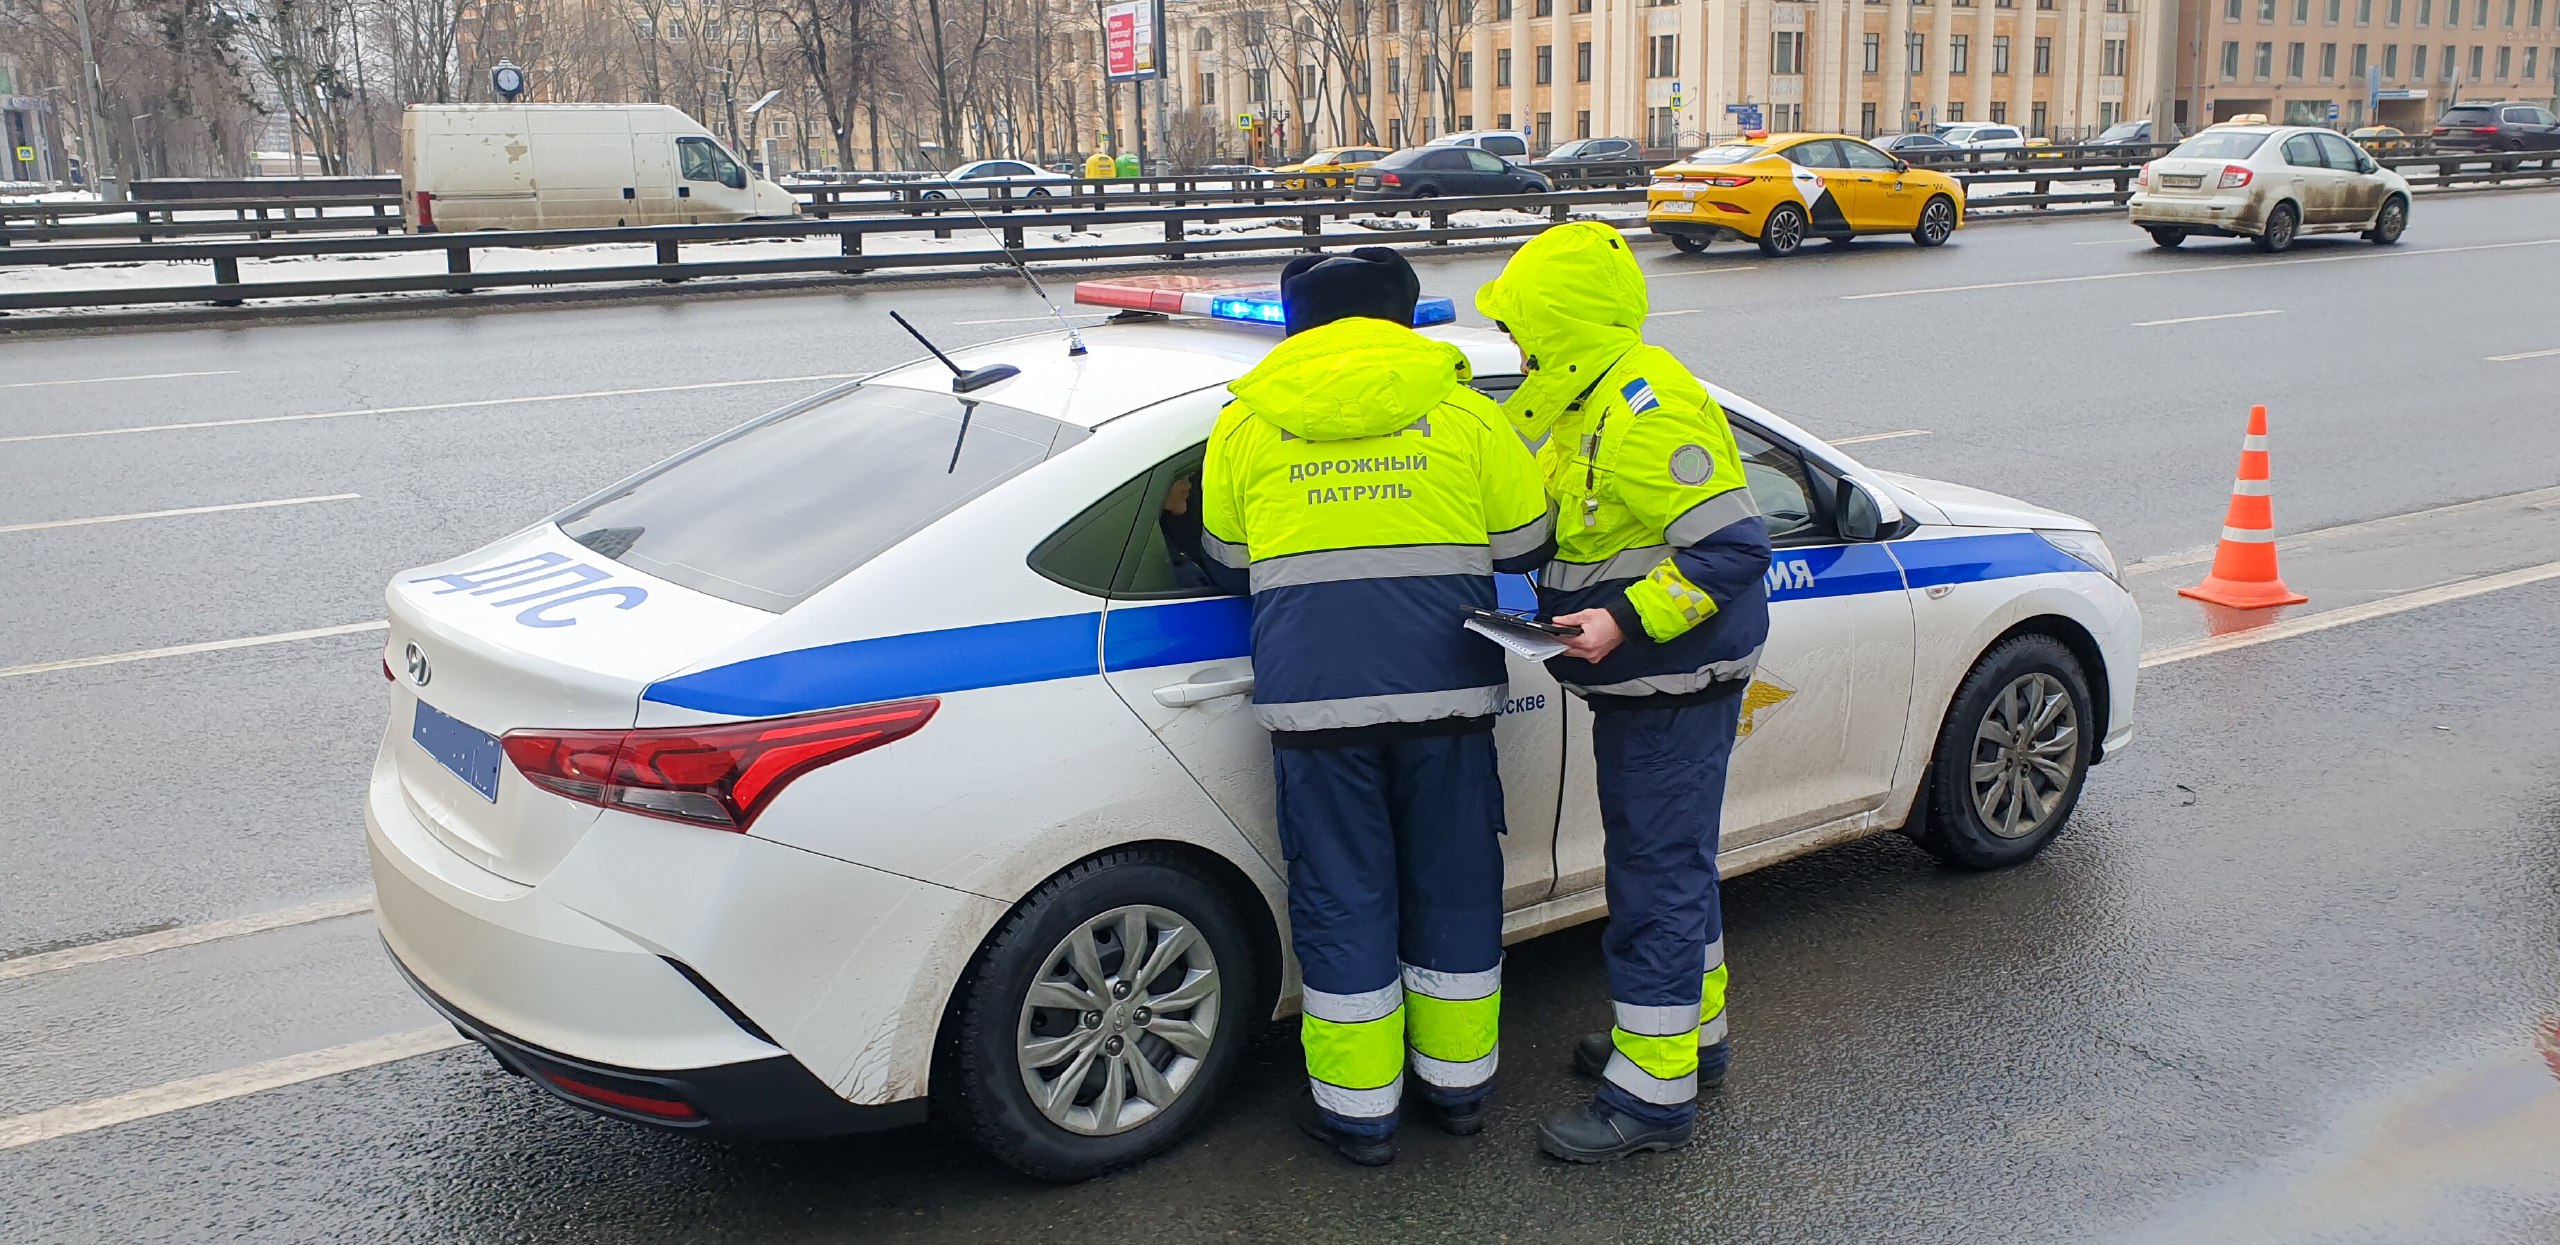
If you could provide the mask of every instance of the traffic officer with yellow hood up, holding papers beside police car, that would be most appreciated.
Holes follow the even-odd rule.
[[[1608,835],[1603,935],[1615,1025],[1574,1050],[1600,1078],[1539,1145],[1600,1163],[1690,1143],[1725,1076],[1715,845],[1741,692],[1769,635],[1769,530],[1723,410],[1644,343],[1644,272],[1603,223],[1556,225],[1477,292],[1528,379],[1503,405],[1559,505],[1539,607],[1582,628],[1549,661],[1592,707]]]

